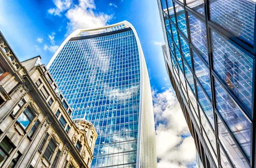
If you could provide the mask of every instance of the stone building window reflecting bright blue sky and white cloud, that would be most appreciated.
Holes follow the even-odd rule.
[[[29,124],[35,118],[35,115],[31,112],[29,108],[26,108],[24,112],[19,116],[17,122],[24,128],[27,129]]]

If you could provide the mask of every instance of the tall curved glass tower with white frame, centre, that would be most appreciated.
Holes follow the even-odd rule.
[[[156,168],[148,70],[129,22],[74,31],[47,67],[73,119],[96,127],[92,168]]]

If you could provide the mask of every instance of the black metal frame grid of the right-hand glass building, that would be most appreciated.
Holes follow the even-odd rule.
[[[163,1],[163,0],[160,0]],[[227,127],[227,124],[224,122],[224,120],[221,118],[222,122],[224,123],[224,126],[226,127],[226,129],[228,130],[228,133],[231,135],[231,137],[233,138],[234,142],[236,143],[236,145],[238,146],[238,148],[240,149],[241,153],[243,154],[243,157],[245,158],[245,160],[247,160],[248,164],[250,164],[251,167],[256,168],[256,115],[254,114],[254,112],[256,111],[256,107],[254,106],[256,104],[256,98],[254,97],[254,95],[256,95],[256,89],[254,88],[254,85],[256,83],[255,79],[256,79],[256,73],[255,73],[255,68],[256,68],[256,24],[254,24],[254,38],[253,38],[253,45],[250,45],[249,43],[243,41],[242,39],[240,39],[239,37],[233,35],[231,32],[227,31],[226,29],[222,28],[221,25],[219,25],[218,23],[215,23],[213,21],[210,20],[210,11],[209,11],[209,5],[210,2],[209,0],[204,0],[204,15],[199,14],[197,11],[193,10],[192,8],[189,8],[188,6],[186,6],[186,0],[184,0],[184,4],[181,3],[179,0],[172,0],[172,5],[173,5],[173,11],[174,11],[174,17],[175,17],[175,22],[176,24],[169,19],[169,26],[170,26],[170,30],[172,32],[172,26],[171,23],[175,26],[175,28],[177,29],[177,39],[178,39],[178,44],[180,45],[179,47],[177,46],[173,34],[171,36],[171,39],[173,41],[173,47],[177,48],[178,51],[180,52],[180,56],[182,58],[182,65],[183,65],[183,72],[184,72],[184,76],[185,75],[185,66],[184,66],[184,62],[186,62],[187,65],[188,62],[186,61],[185,57],[183,56],[182,53],[182,48],[181,48],[181,42],[180,42],[180,36],[183,37],[183,39],[186,40],[186,42],[189,45],[189,51],[190,51],[190,59],[191,59],[191,63],[192,63],[192,69],[190,66],[188,66],[188,69],[192,72],[193,74],[193,82],[194,82],[194,86],[195,86],[195,98],[197,100],[197,107],[198,107],[198,119],[200,122],[200,127],[201,127],[201,115],[200,115],[200,110],[199,110],[199,106],[201,107],[201,105],[199,104],[198,101],[198,92],[197,92],[197,84],[201,87],[201,90],[203,90],[204,94],[206,95],[206,97],[208,98],[210,104],[212,105],[212,109],[213,109],[213,116],[214,116],[214,121],[215,121],[215,128],[214,130],[212,130],[213,132],[215,132],[215,141],[216,141],[216,148],[217,148],[217,159],[218,159],[218,165],[219,167],[221,167],[221,157],[220,157],[220,148],[223,148],[222,144],[220,143],[220,140],[218,139],[218,120],[217,120],[217,116],[219,118],[221,118],[221,116],[218,114],[218,110],[216,107],[216,102],[215,102],[215,84],[214,84],[214,80],[217,80],[218,83],[220,83],[223,86],[223,89],[225,92],[227,92],[227,95],[234,101],[236,102],[236,104],[239,106],[239,108],[241,109],[241,112],[244,113],[245,117],[247,117],[247,119],[252,123],[252,130],[251,130],[251,150],[250,150],[250,160],[249,158],[246,156],[246,154],[244,153],[244,150],[241,148],[241,146],[239,145],[238,141],[236,140],[235,136],[233,135],[233,133],[231,132],[231,130]],[[167,13],[166,15],[169,16],[169,8],[168,8],[168,3],[167,0],[165,0],[166,2],[166,6],[167,6]],[[183,32],[180,31],[179,27],[178,27],[178,22],[177,22],[177,16],[176,16],[176,8],[175,8],[175,3],[178,4],[179,6],[181,6],[184,9],[185,12],[185,19],[186,19],[186,29],[187,29],[187,34],[188,37],[184,36]],[[162,6],[161,6],[162,7]],[[256,8],[256,5],[255,5]],[[165,11],[162,8],[162,13]],[[190,29],[189,29],[189,20],[188,20],[188,12],[190,14],[192,14],[196,19],[200,20],[201,22],[204,22],[204,24],[206,25],[206,34],[207,34],[207,55],[208,55],[208,60],[209,60],[209,64],[204,60],[204,58],[201,56],[200,53],[198,53],[198,50],[192,45],[191,43],[191,38],[190,38]],[[254,15],[254,21],[256,21],[256,14]],[[165,14],[163,14],[163,17],[166,17]],[[169,17],[170,18],[170,17]],[[253,59],[253,89],[252,89],[252,110],[250,112],[249,109],[247,109],[247,107],[239,100],[239,98],[232,92],[229,90],[229,88],[226,86],[226,84],[224,83],[224,81],[221,80],[221,78],[219,78],[219,76],[217,75],[217,73],[215,73],[214,68],[213,68],[213,55],[212,55],[212,34],[211,31],[215,31],[217,32],[219,35],[221,35],[224,39],[226,39],[228,42],[230,42],[232,45],[234,45],[236,48],[238,48],[239,50],[241,50],[242,52],[246,53],[248,56],[250,56],[250,58]],[[167,32],[167,31],[166,31]],[[169,32],[167,32],[169,33]],[[169,45],[168,45],[169,46]],[[169,48],[170,52],[172,52],[172,50]],[[204,91],[203,87],[201,86],[201,84],[198,81],[198,78],[195,75],[195,68],[194,68],[194,60],[193,60],[193,54],[192,51],[195,52],[201,59],[201,61],[205,64],[205,66],[207,67],[207,69],[209,70],[209,77],[210,77],[210,84],[211,84],[211,95],[212,95],[212,100],[209,99],[208,95],[206,94],[206,92]],[[180,67],[178,62],[177,62],[177,58],[176,58],[176,51],[173,53],[175,56],[175,61],[176,61],[176,65],[177,67]],[[171,57],[172,59],[172,57]],[[174,68],[175,69],[175,68]],[[180,75],[179,72],[177,72],[178,74],[178,81],[180,82]],[[185,78],[186,81],[186,85],[189,84],[189,82],[187,81],[187,79]],[[186,86],[186,87],[190,87],[190,86]],[[190,87],[191,88],[191,87]],[[191,88],[192,90],[192,88]],[[186,92],[187,92],[187,88],[186,88]],[[184,95],[188,96],[188,93],[184,93]],[[184,101],[184,100],[183,100]],[[201,108],[203,111],[203,108]],[[205,115],[205,114],[204,114]],[[206,117],[207,118],[207,117]],[[209,120],[207,118],[207,121],[209,123]],[[211,126],[211,124],[209,123],[209,125]],[[200,132],[202,133],[202,128],[200,128]],[[227,159],[229,160],[230,164],[232,165],[232,162],[230,160],[230,157],[228,156],[227,152],[225,150],[223,150],[224,153],[227,156]],[[214,162],[214,161],[213,161]],[[233,166],[233,165],[232,165]]]

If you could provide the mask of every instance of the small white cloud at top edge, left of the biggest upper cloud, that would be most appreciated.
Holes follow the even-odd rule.
[[[54,16],[61,16],[61,12],[66,11],[70,8],[72,0],[53,0],[56,8],[50,8],[48,10],[49,14],[54,14]]]

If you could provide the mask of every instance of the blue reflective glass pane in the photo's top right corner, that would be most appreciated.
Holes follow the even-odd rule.
[[[210,19],[253,45],[255,5],[253,0],[209,0]]]

